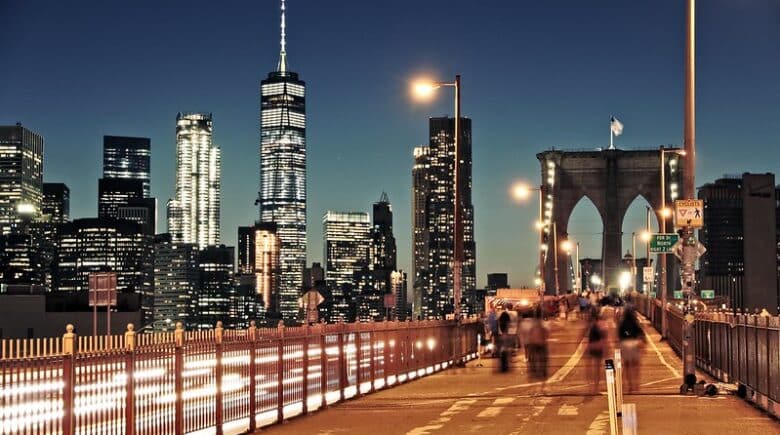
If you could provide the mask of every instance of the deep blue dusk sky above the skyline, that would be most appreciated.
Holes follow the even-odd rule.
[[[697,184],[780,170],[780,2],[698,2]],[[0,124],[46,138],[45,180],[71,188],[74,217],[97,210],[104,134],[152,139],[152,192],[164,230],[178,111],[214,114],[223,150],[222,232],[257,216],[258,87],[278,59],[278,2],[0,0]],[[309,262],[325,210],[369,211],[384,190],[400,267],[411,267],[413,146],[451,95],[410,100],[421,73],[463,76],[473,118],[477,272],[529,282],[536,205],[510,184],[537,183],[535,153],[606,146],[610,115],[627,148],[682,142],[681,0],[290,0],[288,52],[308,85]],[[624,224],[642,225],[636,203]],[[578,207],[571,228],[600,247]],[[591,213],[591,214],[588,214]],[[595,240],[591,240],[595,239]]]

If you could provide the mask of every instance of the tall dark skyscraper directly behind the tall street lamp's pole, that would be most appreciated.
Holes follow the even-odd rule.
[[[471,204],[471,120],[462,118],[460,176],[458,183],[463,219],[463,291],[476,288],[474,207]],[[452,264],[454,258],[454,156],[455,119],[431,118],[430,143],[414,151],[413,243],[415,292],[420,314],[439,318],[454,310]],[[418,296],[415,295],[417,300]]]

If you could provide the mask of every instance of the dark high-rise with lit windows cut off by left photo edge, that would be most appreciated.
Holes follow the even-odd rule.
[[[0,192],[0,234],[41,211],[43,137],[21,124],[0,126]]]

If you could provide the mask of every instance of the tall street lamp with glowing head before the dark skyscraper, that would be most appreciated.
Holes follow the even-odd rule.
[[[453,178],[453,228],[454,239],[453,249],[453,299],[455,307],[453,309],[455,318],[460,319],[460,299],[461,299],[461,276],[463,273],[463,224],[461,222],[461,199],[460,199],[460,74],[455,75],[454,82],[440,82],[430,80],[418,80],[412,85],[412,91],[418,98],[429,98],[434,91],[441,87],[455,88],[455,167]]]

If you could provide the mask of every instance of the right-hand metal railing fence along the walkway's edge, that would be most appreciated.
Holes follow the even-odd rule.
[[[661,304],[639,295],[637,308],[661,330]],[[682,312],[667,307],[670,346],[682,352]],[[745,386],[756,404],[780,416],[780,317],[707,311],[693,323],[696,366],[715,379]]]

